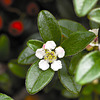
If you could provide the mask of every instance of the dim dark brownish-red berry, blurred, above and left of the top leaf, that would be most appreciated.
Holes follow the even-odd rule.
[[[27,13],[30,16],[36,16],[39,13],[39,7],[36,3],[32,2],[27,5]]]

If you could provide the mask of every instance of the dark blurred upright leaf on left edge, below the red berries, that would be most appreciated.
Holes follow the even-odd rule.
[[[0,60],[6,60],[10,53],[10,41],[9,38],[2,34],[0,36]]]

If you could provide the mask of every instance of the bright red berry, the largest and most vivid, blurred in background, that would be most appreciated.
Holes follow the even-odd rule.
[[[13,36],[19,36],[22,34],[23,29],[24,29],[23,23],[17,20],[17,21],[11,22],[11,24],[9,25],[8,31]]]

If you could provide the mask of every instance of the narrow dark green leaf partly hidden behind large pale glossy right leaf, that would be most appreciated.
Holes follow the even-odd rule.
[[[77,65],[80,61],[80,59],[85,55],[85,52],[80,52],[76,55],[74,55],[71,59],[70,65],[69,65],[69,73],[71,75],[74,75],[76,73]]]

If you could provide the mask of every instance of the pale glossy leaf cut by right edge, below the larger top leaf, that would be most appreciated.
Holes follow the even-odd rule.
[[[95,21],[97,23],[100,23],[100,8],[93,9],[89,13],[88,18],[90,20],[92,20],[92,21]]]

